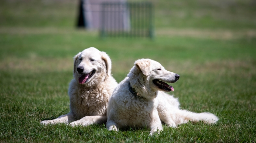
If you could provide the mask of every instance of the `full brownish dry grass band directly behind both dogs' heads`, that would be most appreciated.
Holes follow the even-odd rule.
[[[126,59],[125,61],[112,61],[112,74],[128,74],[133,67],[136,59]],[[206,61],[204,63],[195,63],[192,61],[166,61],[158,60],[165,69],[178,74],[191,74],[198,76],[200,74],[219,74],[228,72],[229,75],[238,75],[246,78],[252,78],[256,75],[256,61],[254,60],[224,60],[224,61]],[[33,57],[22,59],[17,57],[8,57],[0,61],[0,69],[3,71],[70,71],[72,72],[72,58],[45,58]]]

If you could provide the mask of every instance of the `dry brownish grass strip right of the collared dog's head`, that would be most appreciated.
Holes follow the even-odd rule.
[[[256,61],[254,60],[222,60],[206,61],[204,63],[194,63],[192,61],[159,61],[167,70],[180,74],[191,74],[199,76],[200,74],[223,74],[243,76],[252,78],[256,75]]]

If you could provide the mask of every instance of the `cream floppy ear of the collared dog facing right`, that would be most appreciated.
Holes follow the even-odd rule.
[[[150,74],[150,60],[149,59],[139,59],[135,61],[135,65],[141,72],[148,76]]]

